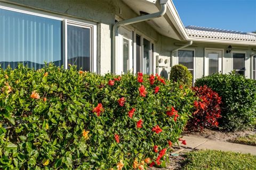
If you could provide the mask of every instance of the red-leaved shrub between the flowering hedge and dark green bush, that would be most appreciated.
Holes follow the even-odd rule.
[[[192,89],[199,100],[194,102],[196,111],[189,118],[187,129],[203,131],[204,128],[217,128],[221,117],[221,97],[206,85]]]

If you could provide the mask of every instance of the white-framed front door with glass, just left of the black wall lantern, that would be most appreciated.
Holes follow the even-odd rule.
[[[205,49],[205,76],[222,72],[222,53],[223,50]]]

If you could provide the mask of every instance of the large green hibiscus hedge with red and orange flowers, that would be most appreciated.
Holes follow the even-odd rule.
[[[163,149],[177,143],[194,102],[191,89],[153,75],[103,77],[75,66],[35,71],[19,65],[0,70],[0,85],[3,169],[131,169],[146,166],[146,158],[164,163]],[[172,106],[177,114],[166,112]]]

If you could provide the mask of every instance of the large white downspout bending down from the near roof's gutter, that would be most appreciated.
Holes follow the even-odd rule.
[[[118,48],[116,48],[116,44],[118,42],[118,28],[123,26],[123,25],[129,25],[129,24],[133,24],[133,23],[138,23],[138,22],[142,22],[142,21],[147,21],[147,20],[151,20],[154,18],[159,18],[161,16],[163,16],[166,12],[166,8],[167,5],[166,3],[169,0],[160,0],[159,4],[161,4],[161,10],[159,12],[153,13],[153,14],[148,14],[148,15],[143,15],[143,16],[138,16],[136,18],[132,18],[132,19],[127,19],[127,20],[123,20],[123,21],[118,21],[114,24],[113,26],[113,30],[112,30],[112,64],[113,64],[113,70],[112,72],[115,74],[121,74],[121,72],[118,70],[118,56],[116,56],[116,54],[118,54]]]

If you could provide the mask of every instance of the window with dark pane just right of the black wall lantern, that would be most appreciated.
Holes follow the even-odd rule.
[[[233,53],[233,70],[237,74],[245,75],[245,53]]]

